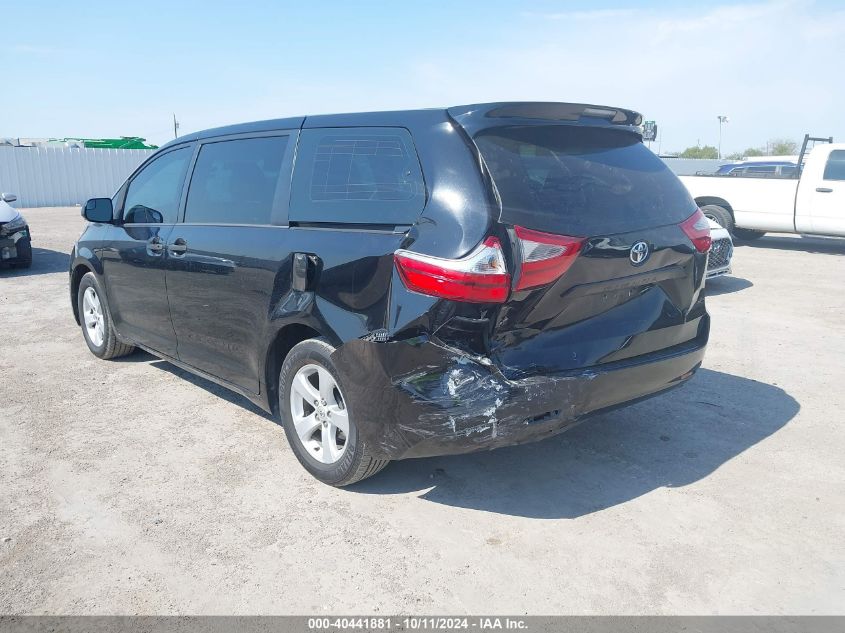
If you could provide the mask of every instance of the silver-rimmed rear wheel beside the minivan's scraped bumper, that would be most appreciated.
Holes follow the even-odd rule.
[[[359,436],[333,352],[322,338],[291,349],[279,372],[279,414],[299,463],[323,483],[348,486],[372,477],[390,460],[373,457]]]

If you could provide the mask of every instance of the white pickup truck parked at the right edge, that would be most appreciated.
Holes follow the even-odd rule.
[[[824,141],[807,155],[810,141]],[[804,138],[800,177],[681,176],[704,215],[734,237],[766,231],[845,237],[845,143]]]

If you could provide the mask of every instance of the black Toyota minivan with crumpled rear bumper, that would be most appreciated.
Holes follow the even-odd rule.
[[[489,103],[181,137],[83,208],[74,315],[100,358],[277,414],[332,485],[548,437],[704,355],[708,223],[640,123]]]

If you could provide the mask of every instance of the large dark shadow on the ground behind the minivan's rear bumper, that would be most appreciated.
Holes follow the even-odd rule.
[[[686,386],[596,416],[567,433],[496,451],[409,459],[350,487],[422,492],[448,506],[539,519],[576,518],[680,487],[769,437],[798,412],[783,389],[702,369]],[[762,486],[746,482],[749,494]]]

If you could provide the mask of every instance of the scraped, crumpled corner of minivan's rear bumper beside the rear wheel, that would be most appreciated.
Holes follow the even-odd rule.
[[[577,421],[584,405],[579,385],[589,380],[585,375],[508,380],[488,358],[427,335],[349,341],[333,360],[346,377],[365,441],[392,458],[534,439],[549,432],[546,422],[561,427],[561,418]]]

